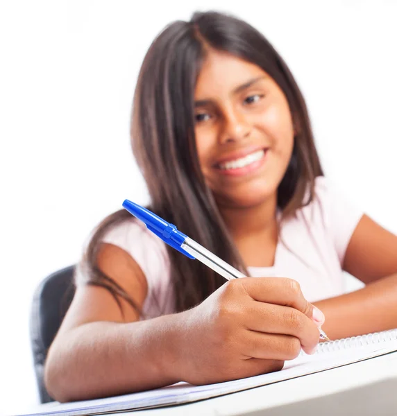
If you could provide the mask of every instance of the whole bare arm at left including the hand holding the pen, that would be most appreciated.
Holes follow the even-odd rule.
[[[143,304],[146,279],[126,252],[105,245],[99,266]],[[46,363],[52,397],[92,399],[280,370],[301,347],[313,351],[322,323],[291,279],[228,281],[193,309],[146,321],[122,302],[124,315],[104,288],[78,288]]]

